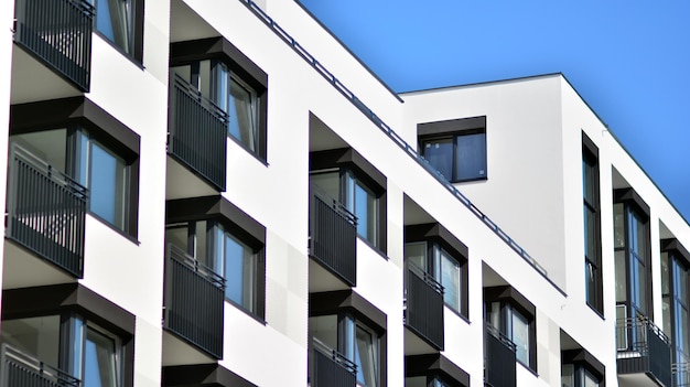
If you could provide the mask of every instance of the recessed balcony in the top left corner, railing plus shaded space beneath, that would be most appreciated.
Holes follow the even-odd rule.
[[[60,86],[60,83],[42,76],[42,72],[23,72],[24,68],[35,67],[29,61],[37,62],[50,68],[76,90],[88,92],[90,87],[94,7],[84,0],[17,0],[14,15],[17,19],[14,43],[32,60],[18,52],[13,53],[15,57],[13,58],[14,73],[12,79],[26,80],[21,83],[21,93],[14,87],[13,82],[13,100],[22,99],[25,101],[25,99],[56,97],[50,95],[54,90],[45,88],[52,85]],[[35,88],[44,89],[43,93],[46,94],[43,95],[43,98],[25,95],[34,88],[32,79],[42,84]],[[67,94],[74,94],[74,92],[67,92]]]

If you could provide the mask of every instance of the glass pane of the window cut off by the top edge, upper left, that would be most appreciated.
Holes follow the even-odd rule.
[[[96,7],[96,29],[125,53],[133,51],[134,0],[91,0]]]

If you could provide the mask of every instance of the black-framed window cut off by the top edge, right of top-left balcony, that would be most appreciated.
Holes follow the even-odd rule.
[[[143,0],[90,0],[96,8],[96,30],[125,54],[141,62]]]

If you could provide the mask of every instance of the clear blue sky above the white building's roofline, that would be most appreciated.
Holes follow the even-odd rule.
[[[301,3],[395,92],[563,73],[690,221],[690,1]]]

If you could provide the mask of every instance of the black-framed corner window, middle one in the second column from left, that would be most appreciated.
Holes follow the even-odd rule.
[[[215,204],[213,204],[215,203]],[[220,213],[202,208],[220,207]],[[249,314],[263,319],[266,229],[220,196],[168,202],[165,240],[225,278],[225,298]]]

